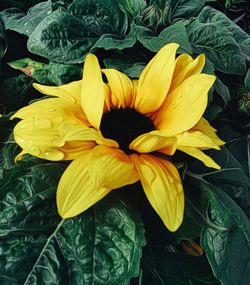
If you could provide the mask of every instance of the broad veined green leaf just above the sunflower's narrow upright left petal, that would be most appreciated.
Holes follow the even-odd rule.
[[[88,2],[81,3],[88,6]],[[124,32],[115,30],[111,18],[104,24],[103,17],[105,18],[106,10],[99,11],[96,10],[97,8],[94,6],[92,13],[98,11],[100,17],[86,14],[82,15],[81,19],[61,7],[58,8],[47,16],[31,34],[27,43],[29,51],[55,62],[82,63],[86,53],[101,36],[104,37],[105,34],[114,32],[122,36]],[[85,9],[90,9],[90,7],[85,7]],[[124,21],[122,23],[124,24]],[[125,26],[127,27],[126,23]]]

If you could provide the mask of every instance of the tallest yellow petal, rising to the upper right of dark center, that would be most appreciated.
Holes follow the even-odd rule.
[[[168,93],[179,47],[172,43],[164,46],[148,63],[139,78],[135,108],[142,114],[156,111]]]

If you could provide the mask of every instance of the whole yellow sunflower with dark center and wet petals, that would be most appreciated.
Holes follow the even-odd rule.
[[[17,159],[29,153],[73,160],[58,185],[61,217],[76,216],[111,190],[140,181],[163,223],[175,231],[183,220],[184,194],[171,156],[180,150],[220,168],[202,151],[223,144],[202,118],[215,76],[201,73],[204,55],[176,58],[177,48],[164,46],[138,80],[101,69],[88,54],[82,80],[58,87],[34,84],[55,98],[13,116],[22,119],[14,128],[23,149]]]

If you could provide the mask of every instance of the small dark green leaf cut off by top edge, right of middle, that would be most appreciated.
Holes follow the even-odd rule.
[[[171,22],[197,16],[205,5],[205,0],[169,0]]]

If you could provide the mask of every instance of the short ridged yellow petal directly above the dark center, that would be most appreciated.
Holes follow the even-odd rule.
[[[115,69],[103,69],[111,89],[112,108],[127,108],[133,99],[133,85],[127,75]]]

